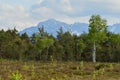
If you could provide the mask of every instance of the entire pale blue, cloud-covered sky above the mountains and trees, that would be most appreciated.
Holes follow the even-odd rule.
[[[93,14],[120,23],[120,0],[0,0],[0,29],[21,31],[47,19],[89,23]]]

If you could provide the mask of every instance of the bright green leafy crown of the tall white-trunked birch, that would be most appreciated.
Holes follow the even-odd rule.
[[[107,33],[107,21],[100,15],[92,15],[89,20],[89,35],[95,41],[103,39]]]

